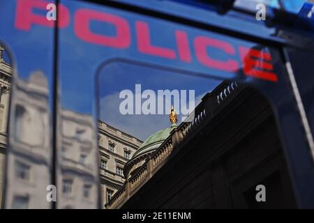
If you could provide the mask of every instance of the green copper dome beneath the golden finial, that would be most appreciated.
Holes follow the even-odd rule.
[[[142,154],[155,151],[167,137],[169,137],[170,132],[177,128],[176,124],[173,124],[170,128],[166,128],[164,130],[159,130],[158,132],[151,134],[145,141],[143,142],[142,146],[137,149],[137,151],[133,154],[132,159],[135,157],[139,157]]]

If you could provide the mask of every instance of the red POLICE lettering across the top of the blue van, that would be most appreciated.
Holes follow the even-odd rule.
[[[42,0],[18,0],[15,28],[22,31],[30,31],[33,25],[54,27],[55,21],[49,21],[45,15],[34,13],[34,9],[46,10],[48,3],[48,1]],[[250,49],[241,45],[234,47],[234,45],[225,40],[209,36],[195,36],[192,41],[193,44],[190,45],[188,33],[179,29],[174,30],[173,36],[169,37],[174,38],[176,42],[175,47],[154,45],[151,27],[149,23],[142,20],[135,21],[136,35],[135,40],[132,40],[130,23],[124,17],[87,8],[77,9],[73,19],[75,36],[86,43],[117,49],[128,49],[133,43],[136,44],[137,51],[141,54],[179,60],[184,63],[191,63],[193,61],[192,52],[195,52],[195,59],[202,66],[225,72],[237,72],[241,67],[244,75],[271,82],[278,81],[278,77],[271,65],[271,54],[258,49]],[[90,24],[92,21],[101,22],[104,26],[114,26],[115,35],[107,36],[103,33],[91,31]],[[59,4],[57,27],[64,29],[69,23],[70,13],[68,9],[66,6]],[[225,54],[225,59],[215,58],[213,49]]]

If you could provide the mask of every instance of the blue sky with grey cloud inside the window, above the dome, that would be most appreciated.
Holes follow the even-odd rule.
[[[100,120],[144,140],[150,134],[171,126],[168,114],[121,114],[119,105],[124,100],[124,98],[119,98],[121,91],[128,89],[133,92],[135,97],[135,84],[141,84],[142,92],[146,89],[153,90],[156,97],[158,90],[168,89],[172,91],[177,89],[179,92],[181,90],[187,90],[187,92],[194,90],[194,104],[196,106],[200,103],[202,96],[214,89],[220,82],[220,80],[205,79],[130,63],[112,63],[100,70],[98,75]],[[158,99],[160,98],[156,98],[156,101]],[[193,100],[193,98],[188,97],[184,97],[184,99]],[[142,103],[145,100],[142,99]],[[165,107],[165,100],[163,105]],[[168,111],[170,108],[166,109]],[[178,109],[176,110],[178,111]],[[179,114],[178,125],[181,120],[181,114]]]

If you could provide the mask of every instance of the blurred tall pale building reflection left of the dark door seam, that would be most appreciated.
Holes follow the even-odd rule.
[[[43,72],[16,79],[6,160],[6,208],[50,208],[51,151],[47,79]]]

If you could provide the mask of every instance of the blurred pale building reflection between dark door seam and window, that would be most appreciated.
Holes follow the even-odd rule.
[[[66,109],[59,114],[57,208],[96,208],[98,165],[93,118]]]

